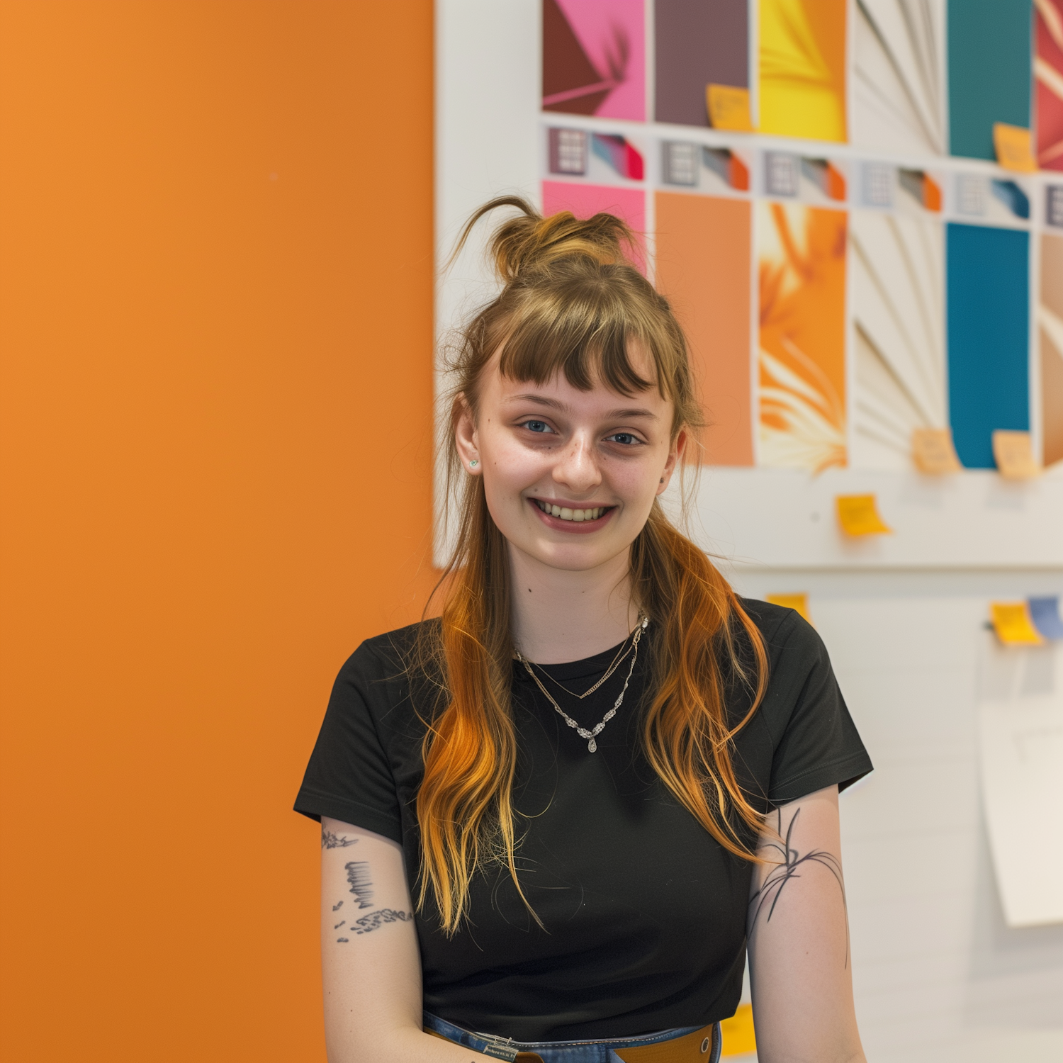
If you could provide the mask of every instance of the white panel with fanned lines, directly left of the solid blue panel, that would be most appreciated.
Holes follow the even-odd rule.
[[[932,219],[855,210],[849,250],[850,465],[904,471],[914,431],[948,425],[944,234]]]

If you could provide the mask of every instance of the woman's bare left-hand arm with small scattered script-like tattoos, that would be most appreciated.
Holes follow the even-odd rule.
[[[321,821],[321,965],[330,1063],[479,1063],[421,1030],[421,958],[402,848]]]

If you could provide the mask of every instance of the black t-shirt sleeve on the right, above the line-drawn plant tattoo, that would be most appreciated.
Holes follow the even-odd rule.
[[[844,790],[873,765],[823,640],[793,612],[769,641],[779,646],[769,686],[773,704],[764,706],[776,737],[769,800],[784,805],[834,783]]]

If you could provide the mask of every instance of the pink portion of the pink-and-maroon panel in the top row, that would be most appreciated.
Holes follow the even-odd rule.
[[[557,0],[587,57],[604,78],[622,68],[623,81],[594,113],[646,118],[646,35],[643,0]],[[625,54],[626,53],[626,54]]]

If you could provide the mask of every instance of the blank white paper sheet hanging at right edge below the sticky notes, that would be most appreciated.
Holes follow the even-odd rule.
[[[1001,647],[985,635],[982,803],[1005,918],[1063,923],[1063,643]]]

